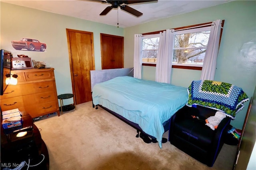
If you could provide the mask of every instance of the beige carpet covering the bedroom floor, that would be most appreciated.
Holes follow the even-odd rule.
[[[170,142],[162,149],[136,138],[136,130],[92,102],[34,123],[48,148],[50,170],[232,170],[236,146],[225,145],[212,168]],[[168,139],[168,132],[164,133]]]

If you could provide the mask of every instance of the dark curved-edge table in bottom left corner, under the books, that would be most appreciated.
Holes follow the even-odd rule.
[[[25,115],[24,115],[25,114]],[[4,134],[2,125],[1,131],[1,164],[0,169],[3,168],[19,168],[29,170],[49,170],[49,153],[48,149],[41,137],[40,131],[33,123],[30,115],[22,112],[23,124],[22,127],[32,126],[33,129],[27,130],[27,135],[24,137],[17,137],[18,133],[9,133],[8,136]],[[2,122],[2,116],[0,121]],[[26,130],[25,130],[26,131]],[[44,155],[44,156],[42,156]],[[22,161],[28,163],[30,160],[30,167],[21,167]],[[36,166],[35,166],[36,165]]]

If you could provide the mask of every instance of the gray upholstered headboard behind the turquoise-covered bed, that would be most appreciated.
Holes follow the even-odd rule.
[[[133,77],[133,68],[115,68],[105,70],[90,70],[91,92],[95,84],[105,82],[115,77],[131,76]]]

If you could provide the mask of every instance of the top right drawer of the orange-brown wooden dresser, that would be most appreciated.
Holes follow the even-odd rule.
[[[40,70],[40,69],[39,69]],[[25,72],[26,81],[52,79],[52,71],[35,71],[35,72]]]

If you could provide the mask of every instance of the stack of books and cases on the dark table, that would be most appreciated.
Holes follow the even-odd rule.
[[[2,127],[4,133],[12,133],[15,130],[22,128],[23,119],[21,118],[19,109],[12,109],[2,112]]]

